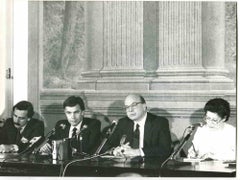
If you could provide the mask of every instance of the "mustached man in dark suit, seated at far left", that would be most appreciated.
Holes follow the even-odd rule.
[[[12,118],[4,123],[1,132],[1,152],[22,152],[44,136],[44,124],[34,115],[33,105],[20,101],[12,108]]]

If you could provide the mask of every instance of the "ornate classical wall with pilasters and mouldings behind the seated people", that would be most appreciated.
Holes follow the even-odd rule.
[[[205,102],[213,97],[229,100],[230,122],[236,123],[236,86],[227,67],[222,68],[224,52],[215,53],[224,39],[212,37],[207,47],[213,51],[203,53],[205,40],[224,25],[224,16],[217,16],[224,12],[223,2],[81,1],[68,7],[66,2],[72,1],[30,3],[39,8],[31,11],[31,20],[39,26],[29,26],[29,39],[36,43],[29,60],[39,77],[29,80],[39,82],[34,88],[39,91],[29,87],[29,92],[47,130],[64,118],[62,102],[70,95],[81,96],[86,116],[99,119],[104,127],[125,115],[128,93],[140,93],[149,111],[169,119],[173,139],[181,137],[189,123],[201,120]],[[66,8],[74,11],[68,14]],[[65,21],[74,27],[70,23],[64,30]],[[218,21],[221,24],[213,26]],[[64,48],[63,41],[71,48]],[[221,67],[212,66],[217,59]],[[228,64],[231,69],[234,63]]]

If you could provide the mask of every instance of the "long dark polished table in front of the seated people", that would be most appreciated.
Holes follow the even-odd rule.
[[[0,176],[116,177],[235,177],[236,166],[221,161],[183,162],[161,158],[79,156],[53,160],[36,154],[0,154]],[[162,165],[164,162],[164,165]]]

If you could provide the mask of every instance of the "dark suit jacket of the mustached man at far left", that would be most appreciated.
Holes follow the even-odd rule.
[[[19,146],[19,152],[21,152],[28,147],[29,143],[22,143],[21,141],[17,142],[17,132],[18,130],[13,124],[13,119],[7,119],[2,129],[3,138],[0,143],[17,144]],[[21,134],[21,138],[24,137],[31,140],[33,137],[39,136],[44,137],[44,124],[42,121],[32,118],[27,122],[27,125]]]

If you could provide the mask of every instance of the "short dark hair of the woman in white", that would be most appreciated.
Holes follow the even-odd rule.
[[[215,98],[209,100],[204,107],[204,112],[207,111],[217,113],[222,119],[226,117],[225,121],[228,121],[230,116],[230,105],[229,102],[222,98]]]

